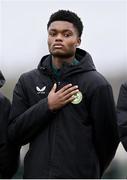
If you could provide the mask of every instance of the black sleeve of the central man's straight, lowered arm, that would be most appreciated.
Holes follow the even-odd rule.
[[[116,109],[110,85],[96,89],[91,103],[91,116],[102,175],[113,159],[119,143]]]

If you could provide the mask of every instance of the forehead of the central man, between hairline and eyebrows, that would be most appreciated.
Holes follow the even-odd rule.
[[[76,28],[74,25],[68,21],[54,21],[50,24],[48,30],[58,30],[58,31],[64,31],[64,30],[70,30],[70,31],[76,31]]]

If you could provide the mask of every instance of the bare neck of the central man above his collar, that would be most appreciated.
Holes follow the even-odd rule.
[[[59,57],[54,57],[52,56],[52,63],[58,68],[60,69],[64,63],[68,63],[71,64],[74,60],[75,56],[72,56],[70,58],[59,58]]]

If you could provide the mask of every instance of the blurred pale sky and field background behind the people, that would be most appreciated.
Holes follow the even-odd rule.
[[[19,76],[36,68],[48,53],[47,22],[59,9],[74,11],[84,24],[80,48],[88,51],[96,68],[111,83],[115,102],[119,88],[127,80],[126,0],[1,0],[0,70],[6,78],[2,92],[10,100]],[[14,178],[22,178],[23,158]],[[127,152],[120,144],[103,178],[127,177]]]

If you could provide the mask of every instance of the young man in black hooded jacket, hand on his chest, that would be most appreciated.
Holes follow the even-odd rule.
[[[59,10],[47,24],[50,54],[21,75],[9,137],[30,143],[24,178],[100,178],[118,145],[112,88],[81,43],[83,24]]]

